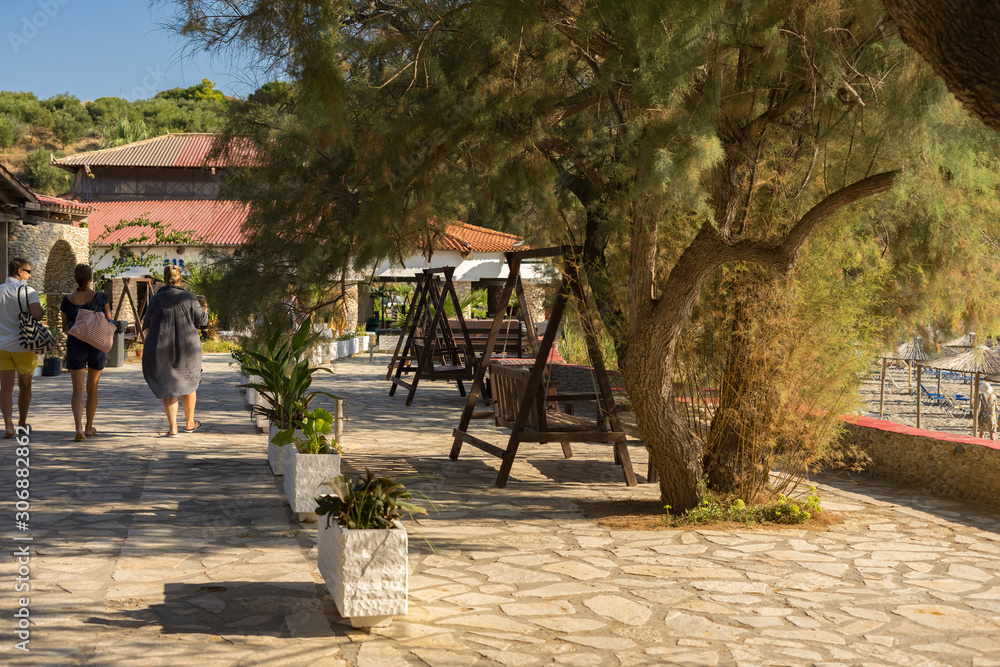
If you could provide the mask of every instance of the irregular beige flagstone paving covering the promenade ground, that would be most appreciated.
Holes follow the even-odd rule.
[[[345,465],[415,477],[438,512],[410,524],[410,613],[340,618],[265,463],[228,358],[206,357],[197,435],[165,432],[136,366],[102,379],[98,438],[72,442],[69,376],[37,378],[31,515],[14,521],[5,441],[0,664],[1000,665],[1000,515],[868,480],[827,480],[825,531],[607,530],[577,501],[652,499],[604,446],[447,457],[461,400],[389,399],[384,358],[320,384],[347,397]],[[504,441],[488,422],[477,427]],[[637,471],[645,455],[633,450]],[[30,536],[30,593],[14,550]],[[433,544],[435,551],[421,540]],[[30,597],[30,654],[13,614]]]

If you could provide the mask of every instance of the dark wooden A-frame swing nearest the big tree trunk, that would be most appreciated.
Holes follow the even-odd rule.
[[[498,410],[499,403],[494,405],[494,412],[489,415],[496,416],[498,425],[508,425],[511,429],[510,440],[507,443],[507,448],[501,449],[492,443],[471,435],[468,432],[469,424],[472,419],[484,416],[482,413],[475,412],[476,398],[483,390],[486,371],[490,365],[490,350],[493,349],[493,345],[499,335],[501,321],[503,320],[502,312],[498,313],[496,318],[493,320],[493,327],[490,329],[490,337],[486,344],[487,351],[483,354],[476,367],[476,373],[472,380],[472,388],[469,390],[469,395],[465,401],[465,410],[462,412],[462,419],[459,422],[458,428],[453,431],[455,442],[452,445],[450,454],[450,458],[453,461],[458,459],[458,456],[462,451],[462,443],[468,443],[483,450],[487,454],[492,454],[493,456],[502,459],[500,472],[497,475],[496,481],[496,485],[500,488],[503,488],[507,484],[507,478],[510,476],[510,470],[514,464],[514,458],[517,456],[518,446],[522,442],[563,443],[563,453],[566,458],[572,456],[572,450],[569,448],[570,442],[612,443],[614,446],[615,463],[622,467],[622,473],[625,476],[625,483],[629,486],[635,486],[636,484],[635,473],[632,470],[632,461],[629,457],[628,449],[625,444],[627,436],[622,429],[621,422],[618,418],[618,413],[614,404],[614,396],[611,392],[611,380],[608,378],[608,371],[604,366],[604,357],[601,355],[601,349],[597,344],[597,338],[594,335],[592,327],[584,326],[584,337],[587,342],[587,351],[590,355],[590,361],[594,367],[594,374],[597,377],[597,384],[599,387],[597,395],[598,416],[596,422],[590,430],[583,430],[583,428],[581,428],[583,420],[570,420],[567,419],[567,415],[561,415],[563,418],[560,420],[545,420],[544,418],[537,419],[540,406],[547,406],[552,403],[557,404],[560,400],[580,401],[594,399],[593,394],[546,394],[544,397],[540,394],[542,391],[542,382],[549,354],[552,351],[552,345],[555,341],[556,332],[562,322],[562,317],[566,309],[566,303],[570,295],[577,300],[580,313],[582,314],[587,312],[587,301],[583,293],[583,285],[580,283],[579,269],[574,259],[576,254],[576,249],[567,246],[506,253],[507,264],[510,267],[510,275],[507,278],[507,282],[503,288],[503,293],[500,296],[500,303],[507,303],[510,299],[511,293],[516,290],[518,302],[521,306],[520,309],[522,312],[527,312],[527,300],[524,298],[524,288],[521,284],[520,275],[521,262],[523,260],[562,256],[564,260],[564,273],[559,293],[556,297],[555,304],[552,307],[552,315],[545,327],[545,335],[542,337],[541,344],[538,345],[535,350],[535,362],[531,367],[527,383],[525,386],[519,387],[516,392],[504,394],[508,397],[519,394],[516,399],[519,401],[519,405],[513,406],[516,409],[516,420],[513,420],[511,423],[502,419],[500,415],[501,412],[504,411]],[[530,321],[531,318],[528,317],[526,320]],[[529,327],[528,333],[528,339],[531,341],[532,347],[535,347],[535,341],[538,340],[538,337],[535,334],[533,324]],[[494,393],[493,399],[496,402],[511,400],[510,398],[504,399],[503,395],[498,395],[496,392]],[[541,407],[541,409],[544,410],[545,407]],[[515,413],[513,411],[506,411],[506,414],[512,415]],[[553,424],[553,422],[556,423]],[[575,425],[566,426],[567,422],[575,422]],[[530,423],[534,423],[535,428],[532,428],[529,425]]]

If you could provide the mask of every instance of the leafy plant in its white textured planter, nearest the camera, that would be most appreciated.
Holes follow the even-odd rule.
[[[351,482],[327,483],[333,490],[316,498],[320,521],[319,570],[337,609],[354,627],[388,625],[406,614],[409,561],[404,514],[426,514],[391,477],[366,470]]]

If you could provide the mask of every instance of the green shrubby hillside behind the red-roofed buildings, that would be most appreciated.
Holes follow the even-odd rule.
[[[70,175],[49,164],[53,157],[168,132],[216,132],[228,104],[208,79],[135,102],[117,97],[81,101],[65,93],[39,99],[30,92],[0,91],[0,162],[32,190],[62,194]]]

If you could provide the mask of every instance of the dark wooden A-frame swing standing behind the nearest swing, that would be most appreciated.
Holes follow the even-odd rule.
[[[396,342],[396,351],[386,376],[392,381],[390,396],[395,395],[396,387],[408,390],[407,406],[413,403],[413,395],[421,380],[454,380],[459,393],[465,396],[462,382],[471,380],[475,374],[472,340],[455,291],[454,275],[455,267],[445,266],[424,269],[423,275],[418,277],[417,293],[414,295],[416,305],[410,308],[404,324],[406,336]],[[445,313],[445,300],[449,298],[458,318],[461,341],[456,340]],[[404,375],[412,377],[403,379]]]

